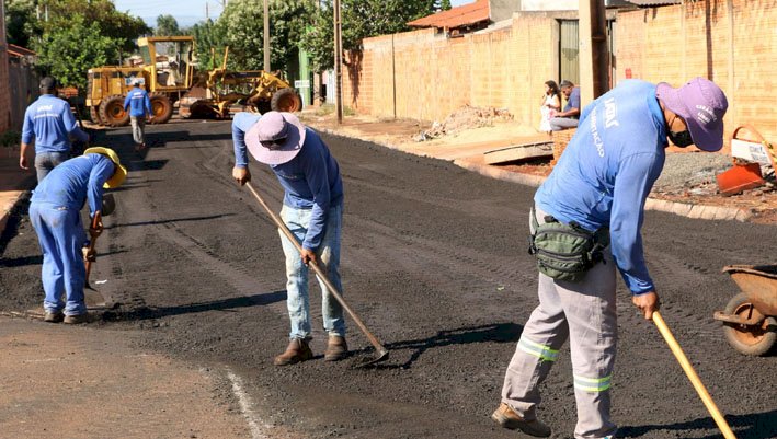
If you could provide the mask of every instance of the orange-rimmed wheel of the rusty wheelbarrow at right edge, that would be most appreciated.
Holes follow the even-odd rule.
[[[725,313],[747,317],[753,304],[747,294],[741,292],[725,305]],[[768,353],[777,339],[777,320],[767,316],[757,325],[725,323],[725,339],[736,350],[745,355],[762,356]]]

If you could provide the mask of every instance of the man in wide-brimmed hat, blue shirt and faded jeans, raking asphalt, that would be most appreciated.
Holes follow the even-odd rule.
[[[251,180],[248,152],[268,164],[285,190],[282,220],[302,246],[302,254],[281,233],[286,256],[286,293],[292,323],[290,342],[275,357],[276,366],[312,358],[308,267],[321,266],[335,288],[340,279],[340,240],[343,221],[343,181],[340,167],[319,135],[306,128],[290,113],[268,112],[263,116],[238,113],[232,122],[235,169],[232,177],[245,184]],[[320,281],[323,327],[329,334],[324,360],[335,361],[347,354],[343,309]]]

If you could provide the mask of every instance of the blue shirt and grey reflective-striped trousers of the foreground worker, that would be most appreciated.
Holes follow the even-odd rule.
[[[578,131],[534,200],[534,220],[552,216],[589,231],[609,228],[610,249],[579,281],[539,273],[539,305],[505,372],[502,402],[535,419],[539,386],[570,340],[578,406],[575,439],[613,438],[610,389],[616,357],[616,270],[633,294],[654,290],[642,254],[643,208],[664,164],[666,128],[655,85],[622,81],[587,105]]]

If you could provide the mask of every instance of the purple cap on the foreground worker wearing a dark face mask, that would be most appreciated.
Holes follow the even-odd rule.
[[[696,148],[715,152],[723,147],[723,116],[729,101],[715,82],[694,78],[678,89],[662,82],[655,96],[685,120]]]

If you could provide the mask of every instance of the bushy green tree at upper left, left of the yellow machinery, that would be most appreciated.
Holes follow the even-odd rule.
[[[33,45],[38,54],[37,66],[60,83],[83,89],[87,70],[107,65],[110,59],[115,63],[121,39],[103,35],[99,23],[87,24],[80,15],[75,15],[68,24],[46,31]]]

